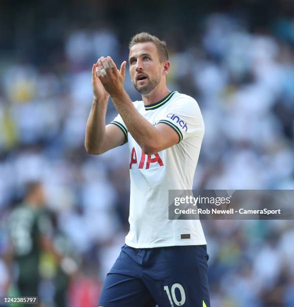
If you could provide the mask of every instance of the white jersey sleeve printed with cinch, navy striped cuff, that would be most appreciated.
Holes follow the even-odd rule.
[[[178,135],[178,142],[186,137],[203,136],[204,123],[200,108],[192,97],[180,98],[171,102],[165,114],[157,121],[170,126]]]

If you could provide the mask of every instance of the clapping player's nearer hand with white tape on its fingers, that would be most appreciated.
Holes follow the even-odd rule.
[[[123,92],[126,61],[117,69],[110,57],[98,59],[97,77],[111,97],[118,97]]]

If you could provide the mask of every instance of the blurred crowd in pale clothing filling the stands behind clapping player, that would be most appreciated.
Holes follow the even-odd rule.
[[[258,31],[249,26],[211,14],[197,40],[183,46],[180,34],[166,39],[168,88],[194,97],[205,123],[195,189],[294,189],[294,19]],[[20,291],[10,231],[19,208],[41,210],[50,226],[38,230],[47,241],[37,247],[38,294],[46,306],[94,306],[124,243],[127,144],[101,156],[84,149],[91,65],[108,55],[119,66],[127,41],[121,45],[111,28],[81,27],[64,39],[63,66],[24,60],[0,68],[0,296]],[[141,100],[128,72],[124,86]],[[116,113],[110,100],[106,122]],[[26,200],[29,183],[43,189],[38,209]],[[294,306],[293,221],[202,226],[212,307]]]

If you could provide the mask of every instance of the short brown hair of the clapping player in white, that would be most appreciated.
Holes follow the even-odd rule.
[[[160,41],[158,37],[151,35],[148,32],[141,32],[134,35],[128,44],[128,49],[130,49],[133,45],[138,43],[147,43],[151,42],[155,44],[159,56],[159,61],[162,63],[163,61],[168,61],[168,53],[166,48],[166,43],[164,41]]]

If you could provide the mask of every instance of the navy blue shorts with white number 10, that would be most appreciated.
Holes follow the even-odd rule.
[[[206,245],[121,247],[101,290],[105,307],[210,307]]]

